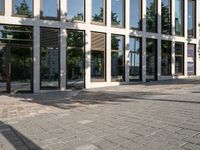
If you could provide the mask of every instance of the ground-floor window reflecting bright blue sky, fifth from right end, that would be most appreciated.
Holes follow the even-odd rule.
[[[142,76],[142,42],[141,38],[130,38],[129,80],[141,80]]]

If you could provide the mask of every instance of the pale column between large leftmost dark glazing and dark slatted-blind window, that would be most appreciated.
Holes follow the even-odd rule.
[[[33,92],[40,91],[40,27],[33,29]]]

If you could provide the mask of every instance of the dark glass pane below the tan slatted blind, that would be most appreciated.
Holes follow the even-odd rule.
[[[104,79],[104,52],[91,51],[92,80]]]

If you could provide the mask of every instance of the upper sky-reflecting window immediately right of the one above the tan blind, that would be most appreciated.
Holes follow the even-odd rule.
[[[112,0],[111,21],[113,26],[124,27],[124,0]]]

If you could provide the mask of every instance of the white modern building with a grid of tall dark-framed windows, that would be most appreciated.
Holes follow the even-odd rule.
[[[198,0],[0,0],[0,93],[200,75]]]

